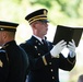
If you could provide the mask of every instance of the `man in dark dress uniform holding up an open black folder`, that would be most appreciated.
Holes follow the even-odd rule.
[[[46,39],[47,12],[46,9],[40,9],[25,17],[33,30],[32,37],[20,45],[28,55],[28,82],[59,82],[59,69],[71,71],[75,65],[74,40],[69,42],[68,45],[61,40],[54,46]],[[64,58],[61,50],[67,46],[70,52]]]

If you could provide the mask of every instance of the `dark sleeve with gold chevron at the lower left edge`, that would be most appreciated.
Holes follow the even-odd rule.
[[[9,61],[4,50],[0,49],[0,82],[7,82],[9,74]]]

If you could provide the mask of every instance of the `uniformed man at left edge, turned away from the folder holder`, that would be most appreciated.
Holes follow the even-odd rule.
[[[25,82],[28,67],[26,52],[16,45],[17,23],[0,21],[0,46],[5,56],[0,55],[0,82]]]

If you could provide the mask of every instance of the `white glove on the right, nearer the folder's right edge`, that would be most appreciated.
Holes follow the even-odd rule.
[[[72,39],[72,42],[69,42],[68,48],[70,50],[70,57],[71,58],[74,57],[75,56],[75,43],[73,39]]]

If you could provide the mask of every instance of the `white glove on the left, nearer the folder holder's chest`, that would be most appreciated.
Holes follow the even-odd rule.
[[[60,40],[54,48],[50,50],[52,57],[58,57],[61,50],[67,46],[64,40]]]

